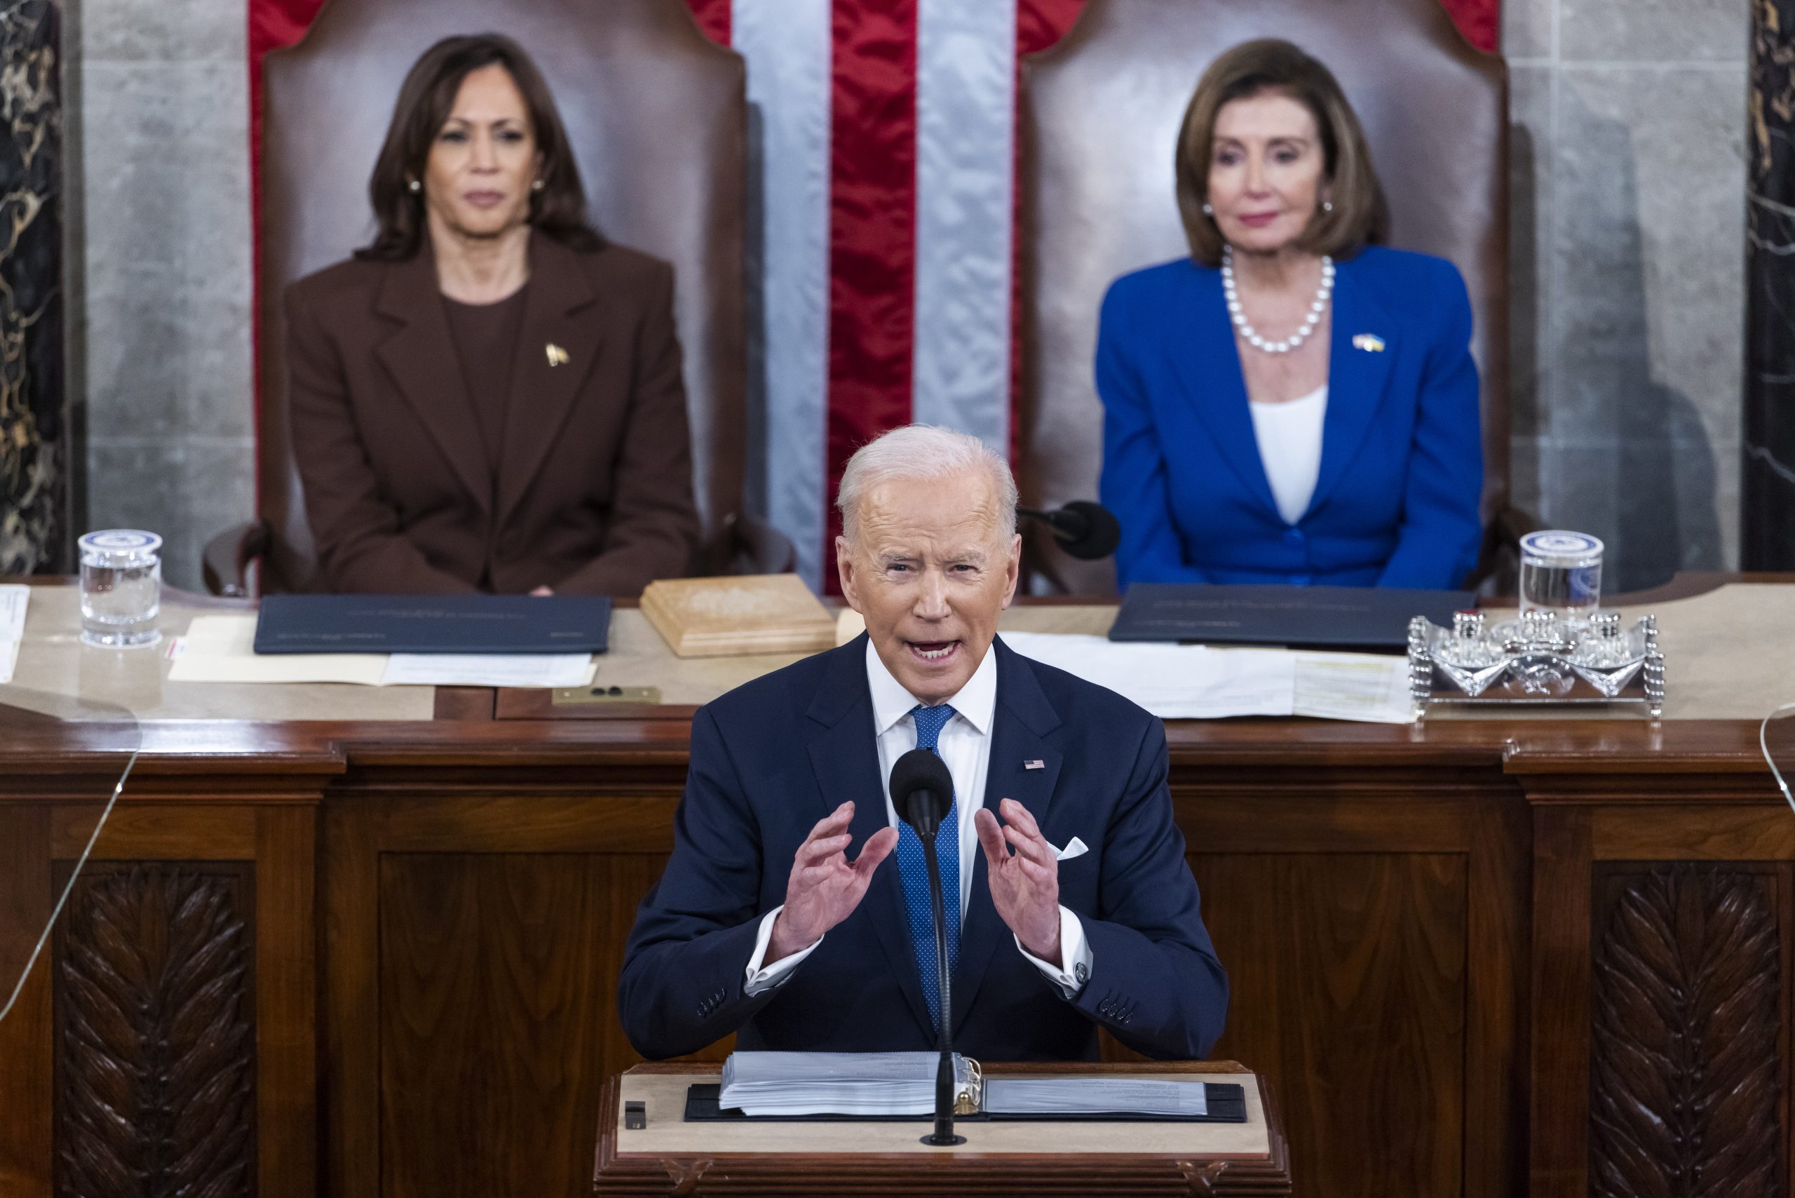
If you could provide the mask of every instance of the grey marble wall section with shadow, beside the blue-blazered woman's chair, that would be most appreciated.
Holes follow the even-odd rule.
[[[1608,587],[1736,568],[1748,0],[1506,0],[1515,485]]]

